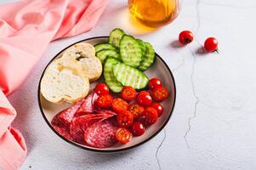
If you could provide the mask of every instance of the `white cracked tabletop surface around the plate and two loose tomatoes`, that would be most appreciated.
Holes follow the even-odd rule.
[[[52,42],[30,76],[9,96],[18,111],[14,127],[26,138],[28,156],[20,169],[256,169],[256,1],[184,0],[179,17],[160,29],[141,31],[128,20],[127,1],[111,0],[93,31]],[[60,49],[121,27],[151,42],[174,71],[177,102],[164,131],[125,153],[101,155],[65,143],[38,109],[37,83]],[[197,42],[180,48],[179,31]],[[197,53],[209,37],[219,54]],[[22,106],[20,106],[22,105]]]

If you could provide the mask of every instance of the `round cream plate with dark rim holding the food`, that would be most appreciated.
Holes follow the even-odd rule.
[[[91,38],[88,38],[88,39],[85,39],[85,40],[82,40],[79,42],[88,42],[88,43],[95,45],[100,42],[107,42],[107,40],[108,40],[108,37],[91,37]],[[75,42],[75,43],[77,43],[77,42]],[[73,43],[73,44],[75,44],[75,43]],[[71,47],[73,44],[71,44],[69,47]],[[66,48],[69,48],[69,47],[66,47]],[[60,51],[59,54],[55,55],[54,59],[60,58],[61,54],[63,54],[63,52],[65,51],[66,48],[64,48],[62,51]],[[53,62],[54,59],[52,59],[48,63],[48,65],[51,62]],[[43,74],[46,71],[48,65],[44,69]],[[42,74],[42,77],[43,77],[43,74]],[[162,116],[160,116],[158,118],[157,122],[154,125],[152,125],[151,127],[148,127],[143,135],[141,135],[139,137],[134,137],[133,139],[131,139],[128,144],[115,144],[109,148],[99,149],[99,148],[93,148],[93,147],[90,147],[87,145],[78,144],[76,142],[73,142],[69,139],[65,139],[64,137],[62,137],[59,133],[57,133],[54,130],[54,127],[51,125],[50,122],[52,121],[53,117],[57,113],[59,113],[60,111],[64,110],[67,107],[70,107],[71,105],[67,104],[67,103],[53,104],[53,103],[48,102],[48,100],[44,99],[43,95],[40,93],[40,84],[41,84],[41,80],[42,80],[42,77],[41,77],[40,81],[39,81],[39,85],[38,85],[38,103],[39,103],[40,111],[42,112],[42,115],[43,115],[43,119],[45,120],[45,122],[47,122],[48,127],[50,127],[54,131],[54,133],[56,133],[61,139],[65,140],[69,144],[73,144],[73,145],[75,145],[79,148],[82,148],[84,150],[93,150],[93,151],[98,151],[98,152],[117,152],[117,151],[122,151],[122,150],[130,150],[130,149],[137,147],[141,144],[145,144],[145,142],[154,138],[156,136],[156,134],[160,133],[162,131],[163,127],[166,126],[166,124],[168,123],[168,121],[174,111],[174,105],[175,105],[175,99],[176,99],[176,88],[175,88],[173,73],[168,68],[168,65],[164,62],[164,60],[158,54],[156,54],[155,63],[153,65],[151,65],[151,67],[148,70],[145,71],[145,74],[150,79],[152,77],[158,77],[162,81],[163,86],[168,88],[170,95],[168,96],[168,99],[165,99],[162,102],[164,112],[163,112]],[[103,78],[101,77],[100,80],[98,80],[97,82],[90,83],[90,90],[93,90],[95,85],[98,82],[103,82]]]

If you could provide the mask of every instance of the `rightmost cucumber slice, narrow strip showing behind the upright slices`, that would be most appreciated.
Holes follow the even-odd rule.
[[[154,60],[156,57],[155,50],[149,42],[145,42],[145,48],[146,48],[145,56],[141,60],[139,68],[138,68],[140,71],[147,70],[154,63]]]

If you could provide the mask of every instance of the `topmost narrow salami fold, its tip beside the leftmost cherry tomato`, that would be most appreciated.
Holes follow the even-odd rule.
[[[93,99],[94,93],[91,93],[88,95],[86,99],[82,102],[81,107],[77,111],[76,116],[82,116],[86,115],[88,113],[93,113],[94,112],[94,106],[92,104],[92,99]]]

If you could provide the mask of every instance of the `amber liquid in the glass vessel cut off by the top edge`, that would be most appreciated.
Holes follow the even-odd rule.
[[[148,22],[173,20],[179,11],[178,0],[128,0],[132,14]]]

